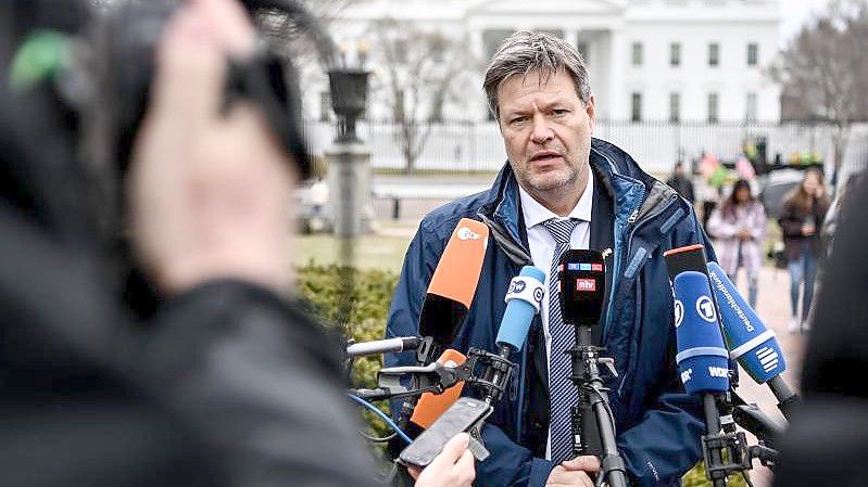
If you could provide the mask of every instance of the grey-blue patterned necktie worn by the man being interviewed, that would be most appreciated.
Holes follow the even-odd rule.
[[[578,390],[569,380],[573,362],[566,351],[576,345],[576,332],[564,323],[561,313],[561,291],[558,290],[557,266],[561,256],[569,249],[569,238],[579,223],[577,219],[545,220],[542,225],[555,241],[552,269],[549,273],[549,333],[552,347],[549,350],[549,419],[551,421],[551,459],[559,463],[573,458],[573,421],[570,408],[578,401]]]

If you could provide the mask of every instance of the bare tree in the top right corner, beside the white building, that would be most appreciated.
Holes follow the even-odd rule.
[[[784,119],[833,126],[836,183],[854,121],[868,119],[868,5],[838,0],[816,23],[802,29],[771,71],[782,84]]]

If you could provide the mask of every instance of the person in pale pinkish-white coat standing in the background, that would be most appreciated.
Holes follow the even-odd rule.
[[[766,209],[751,192],[751,183],[739,179],[732,193],[708,219],[708,233],[715,241],[718,261],[732,282],[740,268],[747,272],[751,307],[756,308],[757,278],[763,267],[763,238],[766,234]]]

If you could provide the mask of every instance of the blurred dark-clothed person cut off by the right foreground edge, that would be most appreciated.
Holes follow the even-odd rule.
[[[814,300],[803,405],[780,443],[776,487],[860,487],[868,450],[868,180],[848,190]]]

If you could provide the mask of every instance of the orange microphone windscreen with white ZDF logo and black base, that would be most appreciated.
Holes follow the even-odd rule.
[[[419,312],[419,335],[430,336],[435,350],[452,344],[473,303],[489,229],[481,221],[462,218],[437,264]]]

